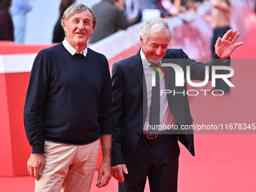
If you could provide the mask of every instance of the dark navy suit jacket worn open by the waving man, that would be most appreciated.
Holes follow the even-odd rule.
[[[210,62],[196,62],[189,59],[187,54],[181,49],[169,49],[163,57],[168,63],[175,63],[184,71],[184,80],[186,79],[186,66],[190,66],[191,80],[204,80],[205,66],[227,66],[230,59],[223,62],[217,55],[213,56]],[[175,71],[172,67],[163,67],[166,72],[166,90],[175,90],[175,92],[187,92],[187,86],[175,87]],[[212,74],[212,72],[209,72]],[[134,154],[139,137],[147,115],[147,91],[143,85],[144,73],[140,51],[127,59],[114,63],[112,69],[112,108],[113,108],[113,131],[112,131],[112,166],[117,164],[126,164],[130,169],[133,166]],[[210,78],[211,79],[211,78]],[[145,93],[143,95],[143,93]],[[193,119],[190,115],[187,95],[167,94],[167,100],[178,126],[190,125]],[[143,108],[143,106],[145,108]],[[178,140],[194,155],[194,136],[193,130],[187,130],[186,133],[178,133]],[[168,151],[168,149],[166,149]]]

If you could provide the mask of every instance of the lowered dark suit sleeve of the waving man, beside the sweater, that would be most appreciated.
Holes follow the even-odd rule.
[[[113,130],[112,130],[112,152],[111,166],[125,164],[121,151],[120,122],[123,113],[124,81],[120,66],[114,63],[112,68],[112,109],[113,109]]]

